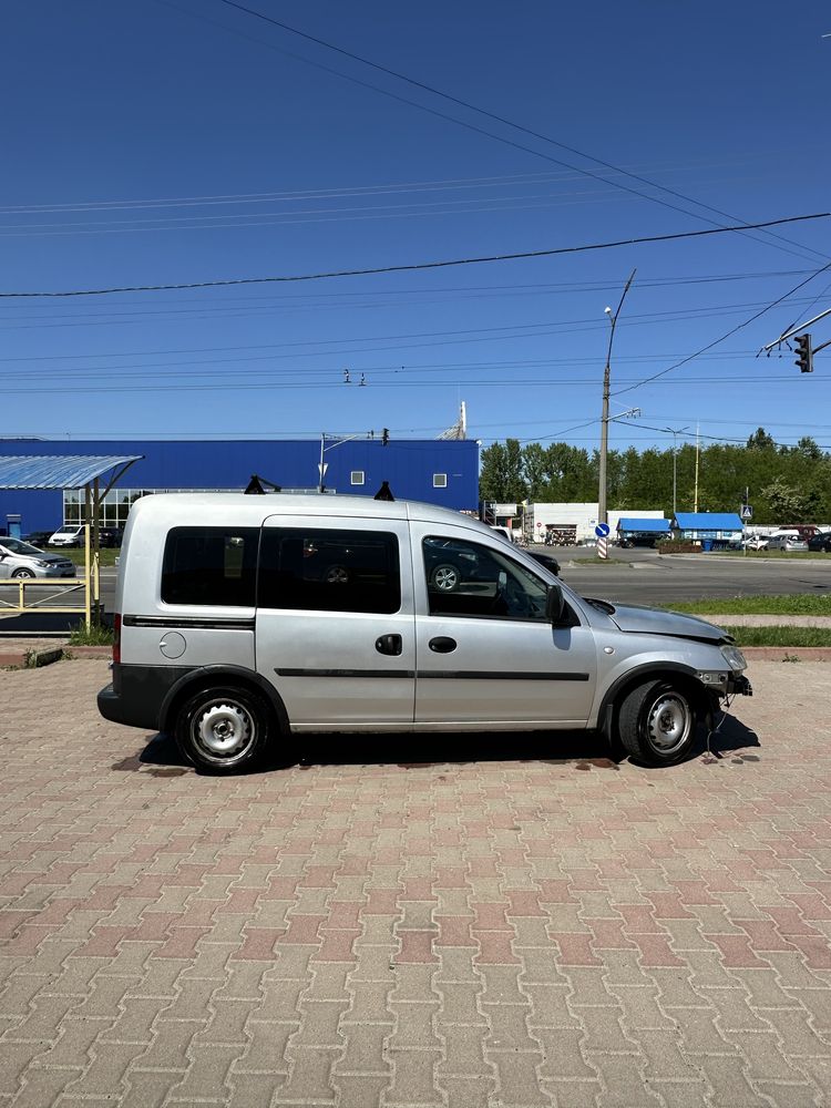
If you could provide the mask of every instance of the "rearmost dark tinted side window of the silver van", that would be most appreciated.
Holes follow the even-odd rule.
[[[162,566],[167,604],[254,607],[257,527],[174,527]]]

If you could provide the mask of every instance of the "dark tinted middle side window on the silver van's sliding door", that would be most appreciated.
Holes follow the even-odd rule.
[[[388,532],[263,532],[258,604],[312,612],[398,612],[398,538]]]

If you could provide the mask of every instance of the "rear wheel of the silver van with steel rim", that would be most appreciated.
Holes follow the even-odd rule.
[[[264,698],[248,689],[215,686],[189,697],[178,709],[176,743],[196,769],[234,773],[261,758],[274,731]]]

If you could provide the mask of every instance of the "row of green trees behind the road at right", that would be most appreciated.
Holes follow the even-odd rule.
[[[696,448],[678,444],[679,512],[695,510]],[[519,440],[482,451],[480,495],[490,501],[538,503],[597,500],[598,454],[565,442],[521,447]],[[673,448],[638,452],[611,450],[607,459],[609,507],[673,511]],[[765,428],[746,445],[702,447],[698,462],[698,511],[738,512],[749,491],[753,523],[831,523],[831,454],[811,438],[778,447]]]

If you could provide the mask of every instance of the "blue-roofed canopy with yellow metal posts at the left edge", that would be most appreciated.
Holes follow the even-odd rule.
[[[65,454],[65,455],[10,455],[0,454],[0,489],[57,489],[84,490],[84,618],[88,630],[93,620],[101,618],[101,583],[99,578],[99,531],[101,504],[112,486],[142,454]],[[109,479],[107,475],[109,474]],[[106,485],[101,491],[101,479]],[[24,611],[27,588],[42,586],[43,582],[17,583],[20,599],[17,611]],[[50,584],[50,583],[47,583]],[[50,587],[55,587],[54,582]],[[70,589],[78,586],[71,585]],[[11,605],[4,605],[11,608]],[[73,612],[72,607],[45,607],[41,612]]]

